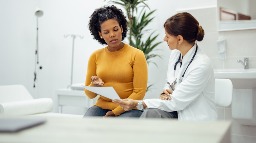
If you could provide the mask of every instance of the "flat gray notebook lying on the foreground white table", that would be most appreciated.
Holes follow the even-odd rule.
[[[1,118],[0,132],[12,133],[28,129],[46,122],[46,119],[18,119],[18,118]]]

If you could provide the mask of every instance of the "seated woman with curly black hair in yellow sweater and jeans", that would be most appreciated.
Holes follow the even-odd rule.
[[[105,48],[92,53],[88,61],[85,86],[114,87],[121,99],[142,100],[147,89],[147,62],[143,52],[122,42],[127,33],[127,20],[115,6],[98,8],[90,17],[93,39]],[[97,96],[84,89],[93,99]],[[99,95],[84,117],[140,117],[142,110],[125,111],[111,99]]]

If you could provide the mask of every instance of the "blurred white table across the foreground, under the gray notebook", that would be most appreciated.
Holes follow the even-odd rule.
[[[47,117],[43,125],[18,133],[0,133],[0,142],[230,143],[230,125],[231,121]]]

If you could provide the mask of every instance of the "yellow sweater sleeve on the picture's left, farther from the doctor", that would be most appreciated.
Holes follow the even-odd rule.
[[[95,87],[91,81],[91,77],[96,75],[96,55],[93,53],[88,60],[87,73],[85,79],[85,86]],[[96,93],[84,89],[85,94],[88,98],[93,99],[97,96]]]

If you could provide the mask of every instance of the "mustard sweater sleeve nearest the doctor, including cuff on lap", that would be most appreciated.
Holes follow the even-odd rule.
[[[142,100],[147,90],[148,81],[148,69],[147,61],[142,51],[138,51],[134,54],[133,60],[133,92],[128,97],[134,100]],[[117,106],[112,110],[115,116],[118,116],[125,112],[121,106]]]

